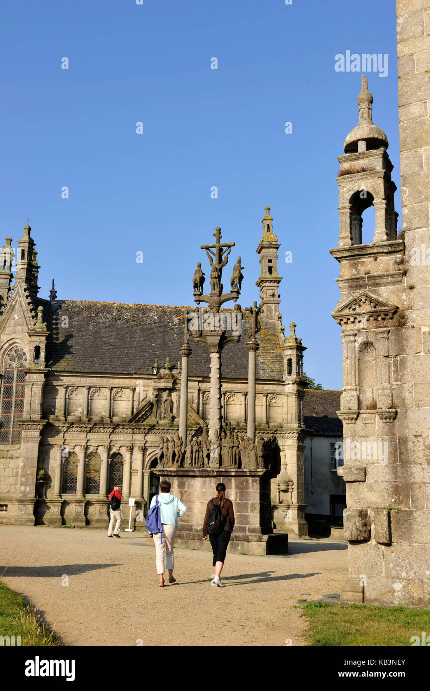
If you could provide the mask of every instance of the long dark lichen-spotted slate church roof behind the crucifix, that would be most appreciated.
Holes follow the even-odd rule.
[[[50,331],[46,367],[55,371],[152,375],[156,359],[163,367],[168,357],[174,372],[180,361],[184,339],[180,317],[185,307],[82,300],[36,299],[35,303],[44,307],[44,321]],[[223,378],[247,379],[249,318],[243,312],[241,341],[224,347]],[[283,381],[283,358],[274,322],[261,319],[258,340],[256,379]],[[189,376],[209,377],[209,349],[194,343],[192,336],[189,345]]]

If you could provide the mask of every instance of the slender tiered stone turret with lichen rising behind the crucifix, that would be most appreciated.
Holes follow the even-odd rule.
[[[261,310],[266,319],[273,319],[279,313],[279,283],[282,276],[278,276],[278,238],[273,232],[273,218],[270,207],[264,207],[263,236],[256,248],[260,255],[260,276],[256,286],[260,290]]]

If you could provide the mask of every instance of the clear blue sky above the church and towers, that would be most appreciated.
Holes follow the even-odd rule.
[[[336,72],[335,55],[389,55],[386,77],[367,76],[400,189],[395,2],[14,0],[1,25],[0,233],[16,246],[30,216],[40,295],[55,278],[59,299],[194,304],[200,244],[219,225],[246,307],[268,204],[286,331],[294,319],[308,375],[342,388],[328,250],[360,73]]]

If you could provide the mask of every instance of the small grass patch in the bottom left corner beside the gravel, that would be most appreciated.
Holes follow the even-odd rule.
[[[0,636],[21,636],[21,646],[61,645],[55,634],[39,621],[35,607],[24,603],[0,581]]]

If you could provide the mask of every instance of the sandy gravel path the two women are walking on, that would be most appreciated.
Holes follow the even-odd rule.
[[[348,571],[346,542],[330,540],[291,541],[288,556],[227,552],[225,588],[210,587],[206,549],[175,560],[178,582],[159,588],[143,533],[0,527],[0,576],[66,645],[303,645],[291,605],[339,592]]]

